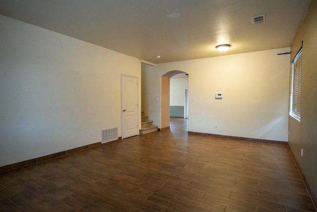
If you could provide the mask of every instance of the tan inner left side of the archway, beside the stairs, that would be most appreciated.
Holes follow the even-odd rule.
[[[161,77],[161,129],[169,127],[169,78]]]

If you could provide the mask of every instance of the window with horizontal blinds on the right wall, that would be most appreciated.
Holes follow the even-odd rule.
[[[301,48],[292,60],[291,95],[289,115],[301,121],[301,89],[302,89],[302,53]]]

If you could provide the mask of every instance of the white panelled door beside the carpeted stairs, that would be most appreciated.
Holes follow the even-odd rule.
[[[138,135],[138,78],[121,75],[122,139]]]

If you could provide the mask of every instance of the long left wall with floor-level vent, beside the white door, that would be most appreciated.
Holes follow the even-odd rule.
[[[102,129],[121,136],[120,77],[141,79],[138,59],[2,15],[0,26],[0,166],[100,142]]]

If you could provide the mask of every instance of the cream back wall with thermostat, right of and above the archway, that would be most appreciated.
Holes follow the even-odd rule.
[[[189,131],[287,141],[290,55],[277,54],[289,51],[158,64],[156,74],[189,74]]]

